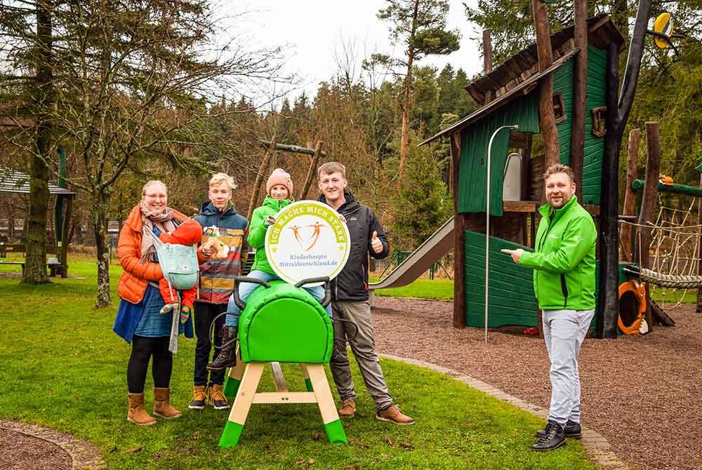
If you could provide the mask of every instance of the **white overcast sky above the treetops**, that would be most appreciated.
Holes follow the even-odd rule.
[[[389,23],[378,20],[376,13],[384,8],[383,0],[244,0],[227,2],[218,8],[221,15],[248,11],[245,20],[231,20],[237,33],[252,43],[265,47],[287,46],[284,51],[286,72],[296,73],[303,84],[291,95],[305,90],[314,96],[319,82],[329,80],[337,70],[336,55],[343,43],[354,43],[359,61],[371,53],[402,55],[393,49],[389,39]],[[477,0],[449,0],[447,24],[461,32],[461,49],[446,56],[430,56],[419,65],[462,68],[468,76],[482,69],[477,43],[476,25],[465,19],[467,3],[475,8]],[[234,5],[236,4],[236,5]],[[228,21],[228,20],[227,20]]]

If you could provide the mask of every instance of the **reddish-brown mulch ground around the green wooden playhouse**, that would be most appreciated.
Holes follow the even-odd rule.
[[[581,349],[583,424],[635,468],[702,469],[702,314],[694,309],[669,310],[675,327],[618,340],[588,338]],[[458,370],[548,408],[542,339],[490,331],[486,345],[482,329],[453,328],[452,315],[451,302],[376,297],[376,347]],[[400,405],[411,413],[411,403]]]

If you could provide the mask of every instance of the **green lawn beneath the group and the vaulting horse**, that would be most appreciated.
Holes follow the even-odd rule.
[[[531,452],[543,420],[437,372],[386,360],[390,391],[416,417],[415,426],[373,417],[353,363],[359,400],[357,416],[344,421],[349,445],[326,442],[316,405],[253,405],[239,446],[220,449],[227,412],[186,408],[194,340],[185,339],[171,381],[172,401],[185,415],[136,427],[126,421],[130,347],[111,330],[120,271],[111,269],[114,307],[99,310],[93,310],[94,263],[72,262],[71,274],[85,279],[52,280],[46,286],[0,277],[0,417],[93,441],[110,469],[595,468],[574,441],[554,452]],[[19,269],[0,266],[4,271]],[[298,370],[284,365],[291,389],[304,390]],[[148,377],[149,408],[150,387]],[[263,387],[274,389],[270,372]]]

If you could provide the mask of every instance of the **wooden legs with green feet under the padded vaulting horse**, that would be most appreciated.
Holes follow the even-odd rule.
[[[307,391],[288,391],[280,364],[272,362],[270,365],[277,391],[257,393],[256,389],[258,389],[258,382],[263,375],[265,364],[264,362],[244,364],[241,362],[241,358],[237,357],[237,365],[230,369],[225,382],[224,394],[227,398],[232,398],[232,396],[236,398],[234,398],[229,420],[220,437],[220,447],[234,447],[239,443],[246,417],[249,415],[253,403],[317,403],[329,442],[334,444],[348,443],[343,425],[336,412],[336,405],[331,396],[323,364],[300,363]]]

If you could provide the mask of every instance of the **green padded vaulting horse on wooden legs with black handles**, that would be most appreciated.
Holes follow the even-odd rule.
[[[326,281],[325,306],[331,300],[329,278],[300,281],[295,286],[284,281],[270,284],[255,278],[237,278],[241,282],[260,284],[241,302],[238,288],[234,292],[239,316],[239,354],[237,365],[230,369],[224,393],[235,397],[229,419],[220,438],[220,447],[239,443],[246,416],[253,403],[317,403],[324,430],[331,443],[347,443],[346,434],[336,412],[324,363],[329,363],[333,349],[333,326],[317,300],[301,286]],[[266,363],[299,363],[305,376],[305,392],[278,389],[273,393],[256,393]]]

